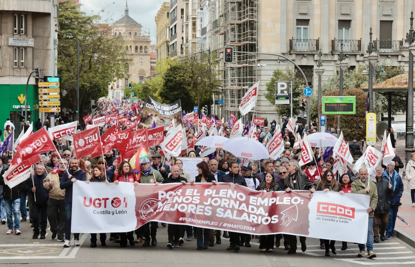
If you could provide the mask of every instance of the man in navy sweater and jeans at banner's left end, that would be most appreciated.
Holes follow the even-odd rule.
[[[61,179],[60,188],[65,191],[65,244],[63,248],[71,246],[71,218],[72,218],[72,184],[76,181],[86,181],[86,173],[79,168],[78,160],[73,157],[69,165],[70,169],[64,172]],[[79,246],[79,233],[73,234],[73,245]]]

